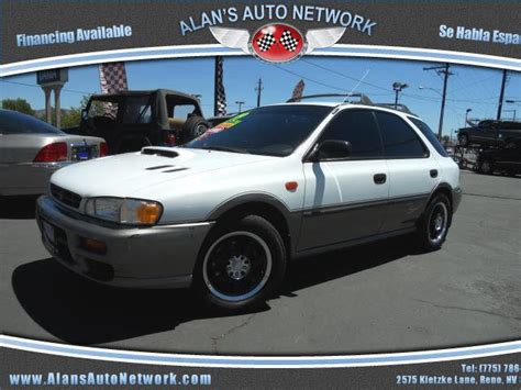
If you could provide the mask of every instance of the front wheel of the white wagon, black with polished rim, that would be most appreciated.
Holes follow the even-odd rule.
[[[276,291],[286,266],[279,232],[264,218],[246,215],[210,232],[199,253],[193,286],[211,308],[241,312]]]

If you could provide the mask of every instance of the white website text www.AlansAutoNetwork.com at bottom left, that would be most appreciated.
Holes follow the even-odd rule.
[[[10,374],[10,386],[209,386],[209,374]]]

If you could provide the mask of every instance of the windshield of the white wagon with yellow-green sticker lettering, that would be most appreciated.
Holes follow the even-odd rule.
[[[331,111],[325,105],[264,107],[226,120],[185,147],[284,157]]]

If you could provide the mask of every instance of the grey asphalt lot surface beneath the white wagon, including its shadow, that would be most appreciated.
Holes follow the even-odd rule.
[[[400,352],[519,339],[521,178],[462,172],[442,250],[411,237],[297,263],[282,293],[214,316],[184,290],[119,290],[66,271],[33,199],[0,201],[1,333],[112,348],[218,354]]]

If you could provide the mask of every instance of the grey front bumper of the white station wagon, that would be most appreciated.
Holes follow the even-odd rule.
[[[36,202],[36,221],[44,246],[64,266],[88,279],[129,288],[190,286],[199,248],[213,224],[106,226],[48,196]],[[53,227],[54,237],[44,223]],[[104,243],[107,250],[86,249],[84,238]]]

